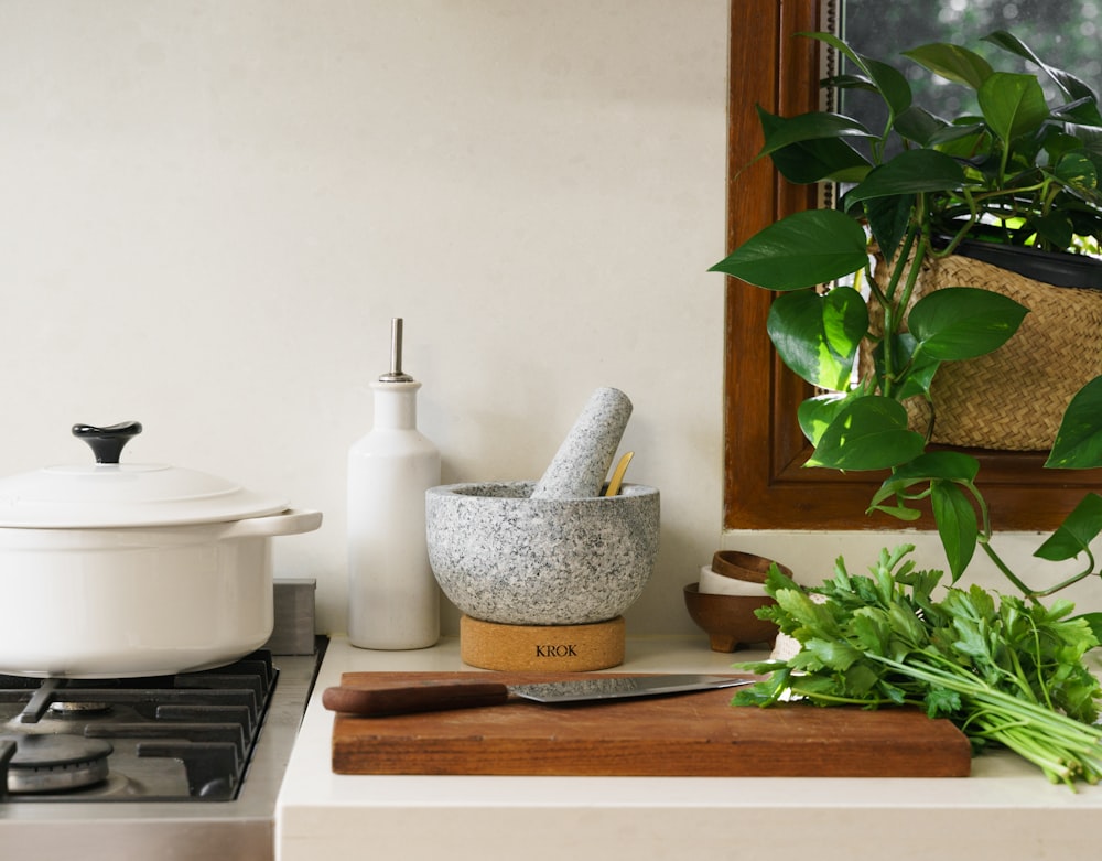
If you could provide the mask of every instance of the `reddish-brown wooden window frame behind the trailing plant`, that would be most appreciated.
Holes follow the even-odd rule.
[[[728,103],[727,244],[787,214],[817,205],[815,190],[780,179],[761,147],[755,105],[789,116],[818,108],[818,42],[828,0],[733,0]],[[864,514],[883,475],[806,469],[811,446],[797,408],[810,387],[781,365],[766,334],[771,293],[727,279],[724,329],[724,527],[887,529],[915,526]],[[1027,401],[1024,396],[1023,401]],[[1049,531],[1088,489],[1094,471],[1045,470],[1044,453],[973,452],[1000,530]],[[927,515],[917,524],[932,528]]]

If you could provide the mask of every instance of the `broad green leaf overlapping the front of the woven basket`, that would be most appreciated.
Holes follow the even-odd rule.
[[[916,353],[951,362],[997,349],[1018,331],[1027,312],[1002,293],[947,287],[916,302],[908,324],[918,340]]]

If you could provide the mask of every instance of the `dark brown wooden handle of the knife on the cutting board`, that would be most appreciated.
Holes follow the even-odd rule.
[[[509,698],[509,689],[495,681],[444,681],[397,688],[326,688],[322,704],[331,711],[379,718],[418,711],[473,709],[498,706]]]

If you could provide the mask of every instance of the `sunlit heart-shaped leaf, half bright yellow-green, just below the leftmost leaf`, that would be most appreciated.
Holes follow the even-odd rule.
[[[766,330],[781,359],[800,377],[842,391],[868,331],[868,306],[851,287],[835,287],[825,294],[792,291],[773,302]]]

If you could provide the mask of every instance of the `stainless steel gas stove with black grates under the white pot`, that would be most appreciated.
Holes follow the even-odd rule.
[[[326,644],[179,676],[0,675],[0,858],[273,859]]]

